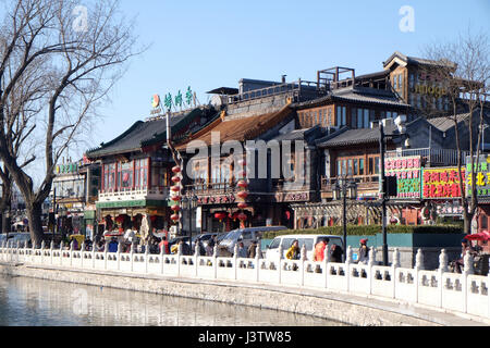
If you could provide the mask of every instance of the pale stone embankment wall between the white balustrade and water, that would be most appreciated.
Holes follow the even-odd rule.
[[[485,325],[470,315],[456,315],[400,300],[354,296],[309,288],[217,279],[168,277],[54,265],[1,263],[0,273],[13,276],[111,287],[237,306],[272,309],[329,319],[358,326]]]

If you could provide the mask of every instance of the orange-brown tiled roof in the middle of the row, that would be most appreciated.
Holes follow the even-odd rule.
[[[185,149],[193,140],[205,141],[211,145],[211,133],[220,134],[220,142],[228,140],[245,141],[252,140],[278,125],[289,115],[293,114],[293,110],[286,105],[280,111],[249,116],[244,119],[222,120],[219,119],[211,123],[208,127],[188,137],[188,141],[177,145],[177,150]]]

